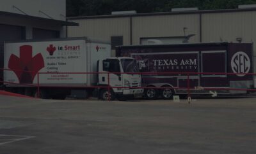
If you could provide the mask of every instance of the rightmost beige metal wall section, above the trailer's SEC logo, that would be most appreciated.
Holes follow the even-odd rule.
[[[242,42],[256,41],[256,11],[243,11],[232,13],[205,13],[202,15],[202,41],[237,42],[236,38],[242,38]],[[253,44],[253,49],[256,43]],[[253,55],[256,55],[254,50]],[[254,59],[254,71],[256,72],[256,57]]]

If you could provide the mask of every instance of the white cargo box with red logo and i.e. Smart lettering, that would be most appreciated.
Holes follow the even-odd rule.
[[[96,74],[82,73],[96,72],[97,60],[110,54],[109,43],[86,38],[5,43],[4,68],[12,71],[4,71],[4,81],[36,84],[39,72],[40,84],[93,85]]]

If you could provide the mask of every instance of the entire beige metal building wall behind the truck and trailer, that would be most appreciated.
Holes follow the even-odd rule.
[[[130,18],[132,18],[132,32]],[[202,42],[233,41],[242,38],[243,42],[256,41],[256,11],[207,12],[202,13]],[[123,36],[124,45],[139,45],[140,38],[184,36],[196,34],[189,42],[200,42],[200,13],[176,15],[145,15],[132,17],[91,18],[70,20],[79,27],[68,27],[68,37],[88,36],[106,39]],[[132,38],[130,38],[132,36]],[[256,43],[254,43],[256,48]],[[112,55],[115,55],[113,52]],[[254,55],[256,52],[254,51]],[[254,64],[256,58],[254,57]],[[255,65],[256,72],[256,65]]]

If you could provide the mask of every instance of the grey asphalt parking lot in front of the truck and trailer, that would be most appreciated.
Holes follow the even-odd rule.
[[[256,99],[0,96],[0,153],[256,153]]]

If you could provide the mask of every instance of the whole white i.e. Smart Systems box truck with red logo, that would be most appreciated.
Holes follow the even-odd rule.
[[[136,60],[110,55],[109,43],[87,38],[8,42],[4,85],[26,95],[38,95],[39,85],[41,97],[52,99],[97,94],[103,100],[124,100],[143,94]]]

